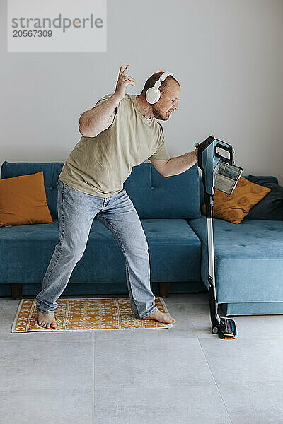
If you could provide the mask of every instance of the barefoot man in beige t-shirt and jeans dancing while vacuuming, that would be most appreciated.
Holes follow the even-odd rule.
[[[115,93],[105,95],[79,119],[81,140],[69,154],[57,182],[59,243],[56,245],[36,297],[38,324],[57,328],[56,300],[67,286],[76,263],[83,256],[93,218],[100,220],[115,236],[125,257],[131,308],[137,319],[155,319],[175,324],[159,311],[151,291],[149,253],[141,221],[123,183],[132,167],[149,158],[164,177],[178,175],[197,162],[195,151],[170,158],[164,144],[163,128],[178,108],[180,84],[168,76],[159,88],[158,102],[146,101],[146,90],[163,72],[154,73],[139,95],[126,94],[129,65],[120,68]],[[111,260],[109,258],[109,260]]]

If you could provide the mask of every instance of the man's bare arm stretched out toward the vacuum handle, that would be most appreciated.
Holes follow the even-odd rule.
[[[182,174],[192,165],[197,163],[197,148],[195,151],[185,153],[185,155],[177,156],[166,160],[149,159],[155,169],[164,177],[172,177],[173,175]]]

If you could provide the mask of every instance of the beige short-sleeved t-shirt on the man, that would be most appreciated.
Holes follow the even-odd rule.
[[[96,106],[111,95],[98,100]],[[83,193],[110,197],[123,189],[133,166],[149,158],[170,159],[163,127],[156,118],[141,114],[137,95],[125,95],[108,125],[96,137],[81,137],[62,167],[62,182]]]

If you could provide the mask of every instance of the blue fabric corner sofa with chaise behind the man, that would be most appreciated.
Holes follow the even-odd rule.
[[[0,228],[0,296],[35,296],[59,242],[57,179],[64,163],[8,163],[1,178],[44,172],[54,223]],[[270,177],[272,181],[278,181]],[[133,168],[124,184],[149,244],[151,289],[156,295],[206,291],[207,226],[200,213],[202,180],[197,165],[163,177],[151,163]],[[283,314],[283,221],[214,219],[218,302],[227,316]],[[64,295],[128,293],[125,259],[115,237],[95,218],[86,251]]]

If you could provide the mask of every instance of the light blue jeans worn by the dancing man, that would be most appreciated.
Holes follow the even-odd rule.
[[[156,312],[151,291],[146,236],[132,200],[125,189],[111,197],[79,192],[58,179],[57,211],[59,243],[47,267],[42,290],[36,296],[37,310],[53,314],[56,300],[66,288],[77,262],[83,257],[96,216],[112,232],[125,257],[127,287],[132,312],[143,319]],[[114,259],[115,260],[115,259]]]

